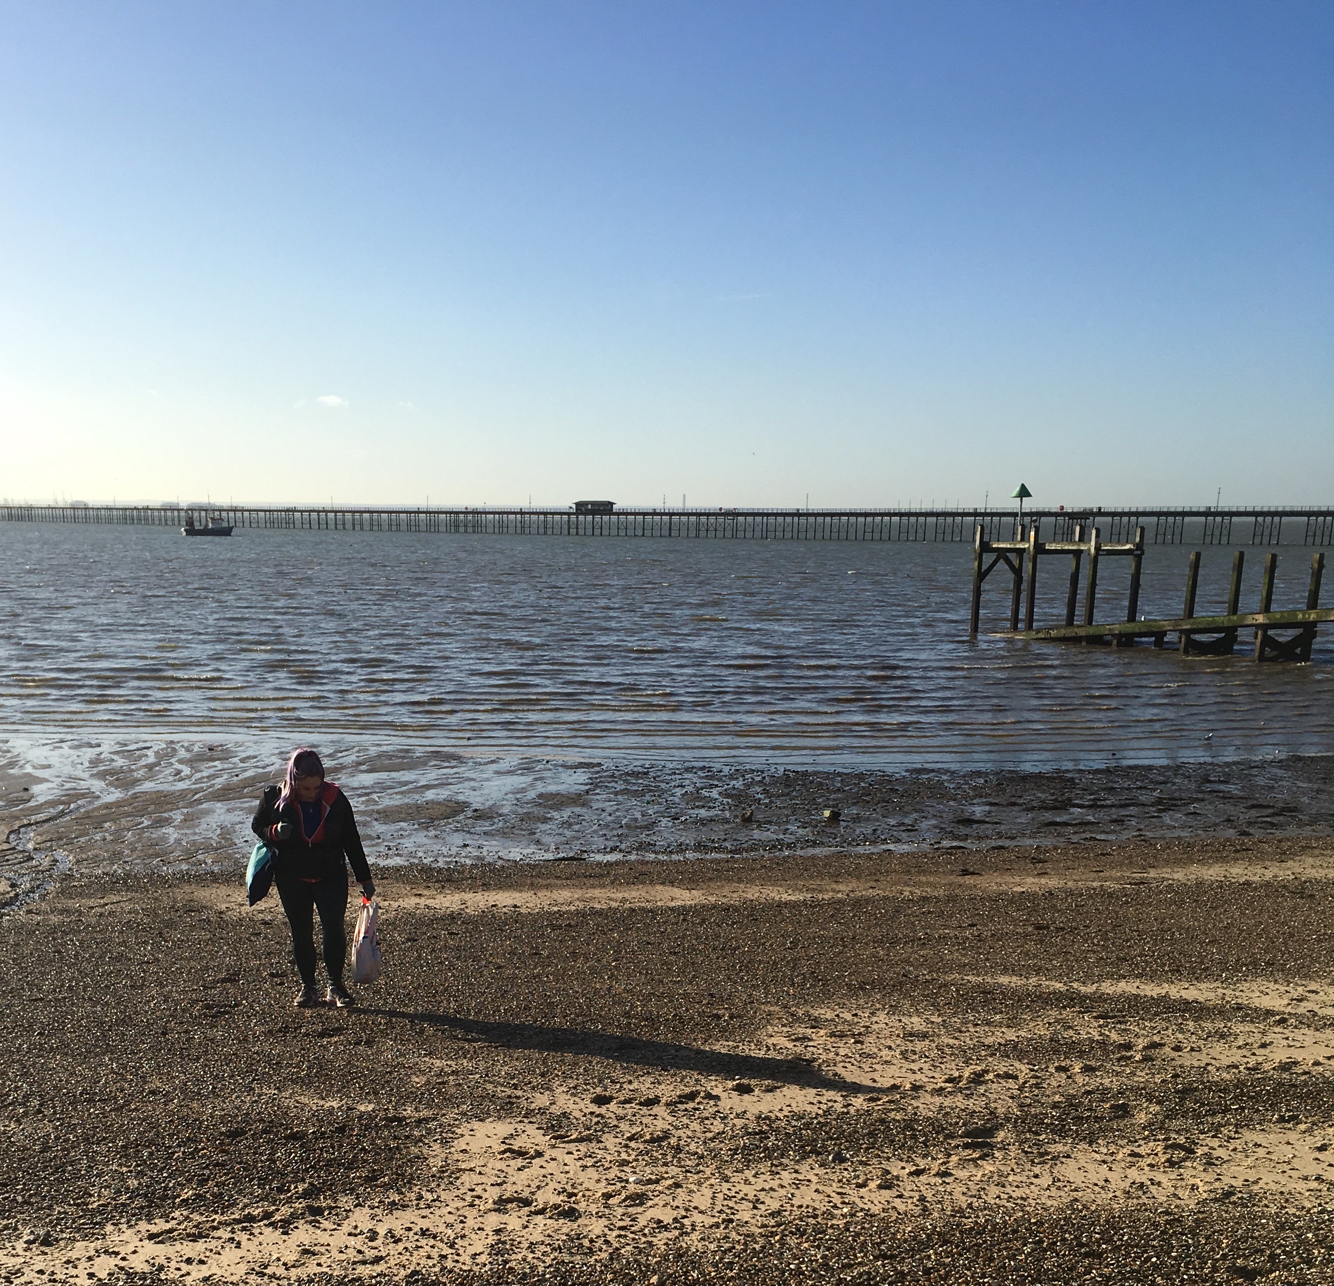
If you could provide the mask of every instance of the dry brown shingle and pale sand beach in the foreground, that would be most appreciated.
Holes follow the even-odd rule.
[[[352,1011],[235,872],[57,872],[0,1277],[1334,1281],[1334,842],[1022,838],[384,868]]]

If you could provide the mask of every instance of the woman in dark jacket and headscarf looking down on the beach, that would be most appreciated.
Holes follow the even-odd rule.
[[[375,895],[371,867],[356,832],[352,806],[332,782],[313,750],[296,750],[287,760],[281,787],[265,786],[251,830],[275,850],[273,883],[292,927],[292,955],[301,975],[297,1009],[319,1003],[315,987],[315,916],[320,912],[324,971],[329,977],[327,1003],[346,1009],[352,997],[343,986],[347,958],[347,863],[352,863],[362,892]]]

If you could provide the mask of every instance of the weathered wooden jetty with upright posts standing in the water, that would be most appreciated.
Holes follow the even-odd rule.
[[[1201,551],[1190,555],[1186,570],[1186,599],[1181,616],[1162,620],[1137,619],[1139,611],[1139,578],[1145,556],[1145,528],[1135,530],[1134,540],[1129,543],[1103,544],[1101,532],[1094,527],[1085,539],[1077,530],[1074,540],[1039,540],[1039,523],[1033,523],[1018,540],[987,540],[979,526],[972,543],[972,604],[968,618],[968,634],[976,636],[982,611],[982,584],[998,567],[1005,566],[1011,576],[1010,628],[1006,638],[1033,639],[1037,642],[1066,643],[1110,643],[1115,647],[1133,647],[1137,639],[1150,639],[1157,648],[1165,647],[1169,635],[1175,635],[1177,648],[1183,656],[1226,656],[1237,648],[1237,635],[1241,630],[1253,630],[1255,660],[1310,660],[1315,643],[1317,626],[1334,622],[1334,608],[1321,607],[1321,580],[1325,575],[1325,555],[1311,558],[1311,576],[1306,591],[1306,607],[1294,610],[1273,610],[1274,579],[1278,571],[1278,555],[1265,555],[1265,571],[1261,578],[1259,610],[1242,612],[1242,571],[1246,551],[1237,550],[1233,555],[1231,584],[1227,595],[1227,611],[1217,616],[1195,615],[1195,591],[1199,584]],[[1034,612],[1038,588],[1039,559],[1051,554],[1070,555],[1070,572],[1066,591],[1066,620],[1062,626],[1034,628]],[[990,555],[990,562],[987,558]],[[1106,556],[1129,556],[1131,559],[1130,592],[1126,603],[1126,619],[1098,624],[1094,622],[1098,594],[1098,563]],[[1081,563],[1087,560],[1085,579],[1083,622],[1075,623],[1079,607]],[[1025,596],[1025,590],[1027,595]],[[1019,611],[1023,604],[1023,628],[1019,628]],[[1285,631],[1286,638],[1274,631]]]

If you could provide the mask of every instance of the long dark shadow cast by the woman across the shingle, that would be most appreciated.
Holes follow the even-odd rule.
[[[883,1093],[883,1086],[842,1081],[819,1071],[807,1058],[770,1058],[763,1054],[728,1054],[674,1041],[646,1041],[584,1027],[547,1027],[542,1023],[491,1022],[451,1014],[411,1013],[392,1009],[358,1009],[359,1018],[387,1018],[451,1031],[462,1041],[506,1050],[536,1050],[543,1054],[574,1054],[606,1058],[662,1071],[698,1071],[724,1081],[778,1081],[842,1094]]]

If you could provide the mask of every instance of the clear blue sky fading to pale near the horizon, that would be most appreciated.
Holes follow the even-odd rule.
[[[0,0],[0,495],[1334,503],[1334,8]]]

